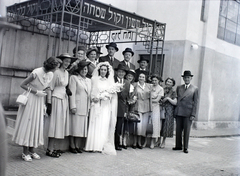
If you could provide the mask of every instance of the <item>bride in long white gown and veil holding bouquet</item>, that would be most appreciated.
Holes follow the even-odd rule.
[[[116,125],[116,84],[114,71],[108,62],[97,65],[92,76],[91,111],[86,151],[116,155],[114,131]],[[115,87],[114,87],[115,86]]]

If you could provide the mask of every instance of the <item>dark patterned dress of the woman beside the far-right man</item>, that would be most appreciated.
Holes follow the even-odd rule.
[[[171,99],[175,99],[177,97],[176,92],[171,88],[164,88],[164,97],[169,97]],[[165,109],[165,121],[162,126],[161,136],[163,137],[173,137],[173,128],[174,128],[174,108],[169,101],[166,101],[162,104]]]

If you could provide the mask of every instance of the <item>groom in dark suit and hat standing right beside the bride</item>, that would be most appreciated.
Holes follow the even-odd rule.
[[[121,92],[118,92],[118,111],[117,111],[117,123],[115,129],[115,148],[116,150],[127,149],[124,144],[120,145],[121,137],[123,136],[124,119],[127,114],[127,100],[129,99],[130,82],[124,79],[124,76],[128,72],[129,68],[122,64],[119,64],[116,70],[115,82],[123,84]]]

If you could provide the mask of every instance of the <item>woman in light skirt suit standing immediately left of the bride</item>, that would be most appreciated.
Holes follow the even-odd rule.
[[[88,113],[90,109],[91,80],[87,78],[90,62],[80,61],[74,75],[70,77],[70,118],[71,137],[69,151],[82,153],[88,129]]]

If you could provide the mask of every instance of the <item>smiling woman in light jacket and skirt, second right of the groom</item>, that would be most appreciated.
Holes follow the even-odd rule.
[[[134,111],[137,111],[140,115],[140,122],[137,124],[137,148],[139,149],[142,149],[147,144],[146,130],[149,116],[152,111],[152,85],[146,83],[146,80],[147,75],[140,73],[138,76],[138,82],[134,83],[134,96],[137,99],[134,106]],[[142,137],[144,138],[143,145],[141,143]]]

